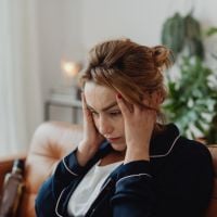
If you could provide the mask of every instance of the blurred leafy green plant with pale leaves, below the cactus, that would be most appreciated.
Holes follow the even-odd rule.
[[[170,122],[175,122],[187,137],[209,138],[217,99],[217,93],[207,85],[207,77],[212,71],[196,56],[184,56],[179,64],[179,85],[171,81],[168,76],[169,94],[163,106],[166,116]]]

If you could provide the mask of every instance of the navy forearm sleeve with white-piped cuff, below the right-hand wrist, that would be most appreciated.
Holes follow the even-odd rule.
[[[154,204],[152,181],[149,162],[137,161],[123,165],[112,197],[113,216],[152,216]]]

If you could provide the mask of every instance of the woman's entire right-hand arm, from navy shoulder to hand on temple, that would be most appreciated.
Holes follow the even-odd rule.
[[[149,122],[145,120],[145,115],[141,114],[142,111],[133,110],[136,113],[140,113],[138,116],[136,113],[130,114],[124,101],[119,99],[117,101],[125,119],[125,130],[127,129],[127,154],[123,166],[127,173],[120,171],[120,178],[116,183],[115,195],[112,199],[113,216],[122,217],[127,214],[130,214],[131,217],[204,216],[213,186],[213,167],[208,150],[199,143],[184,140],[180,145],[181,149],[165,159],[167,162],[161,168],[159,175],[152,178],[148,155],[150,137],[146,135],[145,138],[144,131],[143,135],[140,133],[138,125],[133,124],[138,116],[140,117],[140,127],[142,117],[144,123],[150,120],[149,118],[146,118]],[[150,132],[150,129],[151,125],[146,131]],[[142,144],[140,141],[146,142]],[[135,151],[133,148],[136,148]],[[140,161],[143,161],[144,165],[141,165],[137,171],[135,166]],[[156,181],[156,179],[159,180]]]

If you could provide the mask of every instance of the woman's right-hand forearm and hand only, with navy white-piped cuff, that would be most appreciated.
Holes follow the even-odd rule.
[[[145,98],[146,99],[146,98]],[[113,216],[153,216],[153,178],[150,171],[150,140],[156,122],[153,101],[143,101],[144,107],[127,105],[122,95],[117,103],[125,123],[126,156],[112,199]],[[146,104],[152,103],[151,106]],[[129,107],[131,107],[129,110]]]

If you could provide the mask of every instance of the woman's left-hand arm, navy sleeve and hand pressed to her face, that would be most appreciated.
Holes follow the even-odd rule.
[[[36,200],[38,216],[55,216],[55,205],[64,189],[73,184],[87,170],[88,162],[99,151],[104,138],[97,131],[91,113],[89,112],[85,95],[82,94],[84,139],[77,149],[64,157],[58,165],[53,176],[40,188]],[[48,204],[49,203],[49,206]]]

